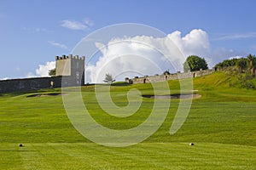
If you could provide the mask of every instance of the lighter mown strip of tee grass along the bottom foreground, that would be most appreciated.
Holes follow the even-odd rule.
[[[255,147],[236,144],[142,143],[109,148],[90,143],[3,144],[9,169],[253,169]]]

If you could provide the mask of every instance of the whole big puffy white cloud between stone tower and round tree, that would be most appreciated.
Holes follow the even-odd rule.
[[[102,57],[96,64],[90,63],[85,67],[86,82],[102,82],[106,73],[117,80],[124,80],[125,77],[162,74],[166,70],[183,71],[185,58],[192,54],[212,62],[207,58],[210,54],[207,32],[202,30],[190,31],[185,37],[181,37],[180,31],[174,31],[159,38],[115,38],[106,46],[96,43],[96,47]]]

